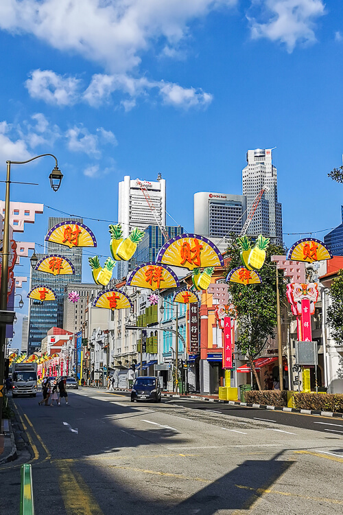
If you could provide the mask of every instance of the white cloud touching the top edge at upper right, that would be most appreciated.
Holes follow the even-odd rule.
[[[252,1],[261,6],[259,18],[248,18],[253,39],[268,38],[284,43],[287,52],[292,52],[298,43],[316,41],[314,21],[324,14],[322,0],[263,0]]]

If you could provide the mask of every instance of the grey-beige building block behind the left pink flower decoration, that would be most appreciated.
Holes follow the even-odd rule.
[[[102,286],[94,283],[69,282],[67,286],[64,286],[63,329],[70,332],[82,330],[88,302],[94,300],[101,290]],[[78,302],[69,301],[68,295],[72,291],[80,295]]]

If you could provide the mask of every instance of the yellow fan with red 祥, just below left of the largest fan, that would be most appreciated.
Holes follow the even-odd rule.
[[[160,288],[180,287],[178,277],[169,266],[152,262],[144,263],[134,268],[128,276],[126,284],[127,286],[149,288],[153,291]]]

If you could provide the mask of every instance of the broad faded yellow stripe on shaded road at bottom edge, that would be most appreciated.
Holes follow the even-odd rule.
[[[104,515],[90,488],[78,472],[61,462],[56,462],[60,470],[58,483],[67,515]]]

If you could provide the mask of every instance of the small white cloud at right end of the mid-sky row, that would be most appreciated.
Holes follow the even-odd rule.
[[[160,92],[165,104],[188,109],[193,106],[208,106],[213,100],[210,93],[201,89],[182,88],[178,84],[161,83]]]

